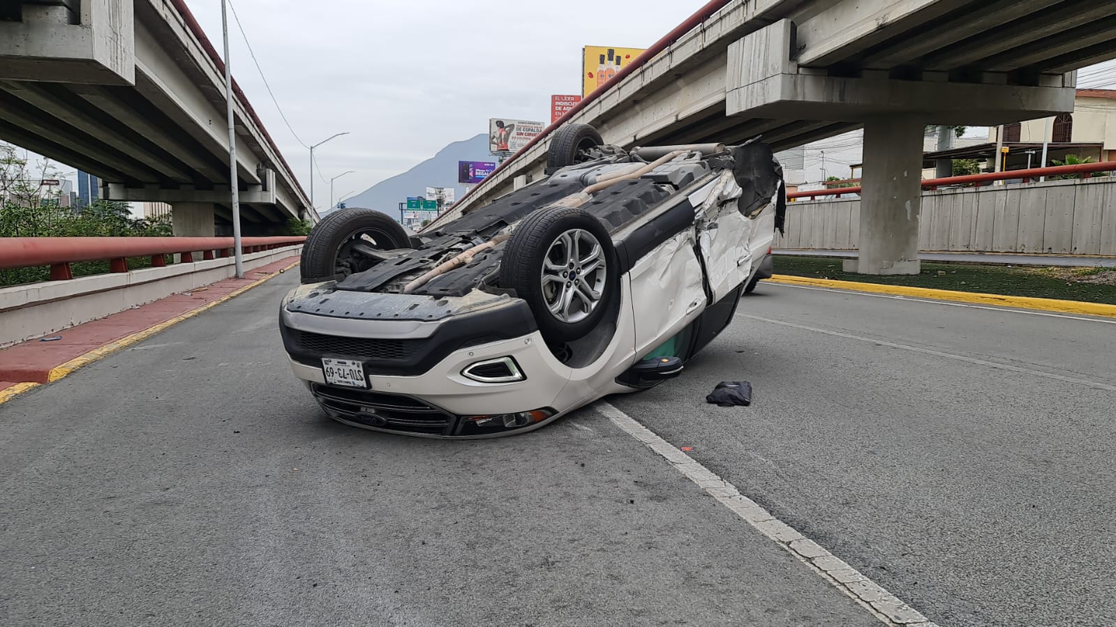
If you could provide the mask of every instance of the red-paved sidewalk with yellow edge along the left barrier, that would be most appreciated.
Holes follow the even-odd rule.
[[[298,255],[280,259],[248,271],[243,279],[224,279],[48,336],[60,339],[30,339],[0,349],[0,392],[21,383],[44,384],[61,378],[89,361],[220,305],[294,267],[298,259]]]

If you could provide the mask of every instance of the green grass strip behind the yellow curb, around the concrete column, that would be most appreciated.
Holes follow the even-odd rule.
[[[1020,268],[964,263],[922,263],[913,276],[856,274],[841,270],[840,259],[819,257],[775,258],[776,274],[815,279],[885,283],[912,288],[1057,298],[1116,305],[1116,269],[1113,268]]]

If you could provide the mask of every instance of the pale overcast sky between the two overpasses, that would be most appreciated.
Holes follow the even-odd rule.
[[[279,106],[315,149],[337,196],[488,131],[488,118],[550,122],[551,94],[579,94],[583,46],[645,48],[704,0],[233,0]],[[633,10],[637,8],[637,10]],[[220,0],[190,9],[222,49]],[[232,71],[308,185],[309,151],[291,135],[229,16]],[[329,186],[315,181],[318,206]]]

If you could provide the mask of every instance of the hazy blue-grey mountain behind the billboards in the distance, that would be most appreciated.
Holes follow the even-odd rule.
[[[367,206],[400,219],[398,206],[406,202],[407,196],[419,196],[426,193],[426,187],[453,186],[455,196],[460,199],[465,193],[463,185],[458,185],[459,161],[496,161],[488,151],[488,135],[480,135],[454,142],[433,157],[420,163],[411,170],[376,183],[372,187],[350,196],[346,206]]]

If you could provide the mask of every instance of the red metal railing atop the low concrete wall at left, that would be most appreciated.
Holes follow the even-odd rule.
[[[305,237],[241,238],[243,252],[261,252],[299,244]],[[73,279],[70,263],[108,260],[109,272],[127,272],[129,257],[151,257],[155,268],[166,266],[164,254],[182,253],[182,262],[231,257],[232,238],[3,238],[0,239],[0,270],[50,266],[50,280]]]

